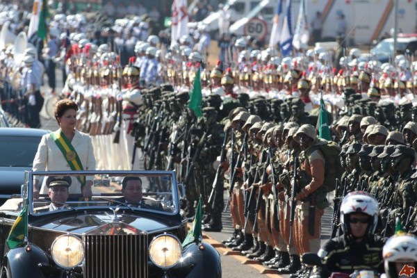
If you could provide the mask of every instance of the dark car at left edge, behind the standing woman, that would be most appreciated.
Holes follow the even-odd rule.
[[[24,171],[32,170],[39,142],[47,133],[42,129],[0,129],[0,194],[20,193]]]

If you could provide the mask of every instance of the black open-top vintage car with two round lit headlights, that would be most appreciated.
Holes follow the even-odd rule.
[[[35,179],[85,177],[81,174],[93,179],[90,199],[70,194],[58,210],[52,209],[49,194],[34,199]],[[179,207],[182,190],[174,172],[61,171],[26,176],[22,197],[8,199],[0,207],[0,278],[221,277],[220,255],[211,245],[198,236],[183,243],[187,219]],[[139,206],[128,204],[122,195],[125,177],[141,180]],[[10,244],[22,222],[27,229],[14,238],[22,243]]]

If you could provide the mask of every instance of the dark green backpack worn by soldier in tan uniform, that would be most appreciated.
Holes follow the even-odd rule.
[[[340,180],[344,172],[339,158],[341,147],[336,142],[329,141],[327,144],[311,147],[311,152],[316,149],[319,149],[325,156],[325,181],[323,186],[327,192],[333,191],[336,188],[336,179]]]

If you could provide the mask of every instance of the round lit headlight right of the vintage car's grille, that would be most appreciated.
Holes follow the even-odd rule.
[[[156,236],[149,245],[149,258],[159,268],[171,268],[179,262],[182,246],[179,239],[170,234]]]

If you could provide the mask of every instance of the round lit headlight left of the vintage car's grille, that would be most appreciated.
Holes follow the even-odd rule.
[[[51,245],[51,254],[61,268],[74,268],[84,259],[84,245],[76,236],[58,236]]]

